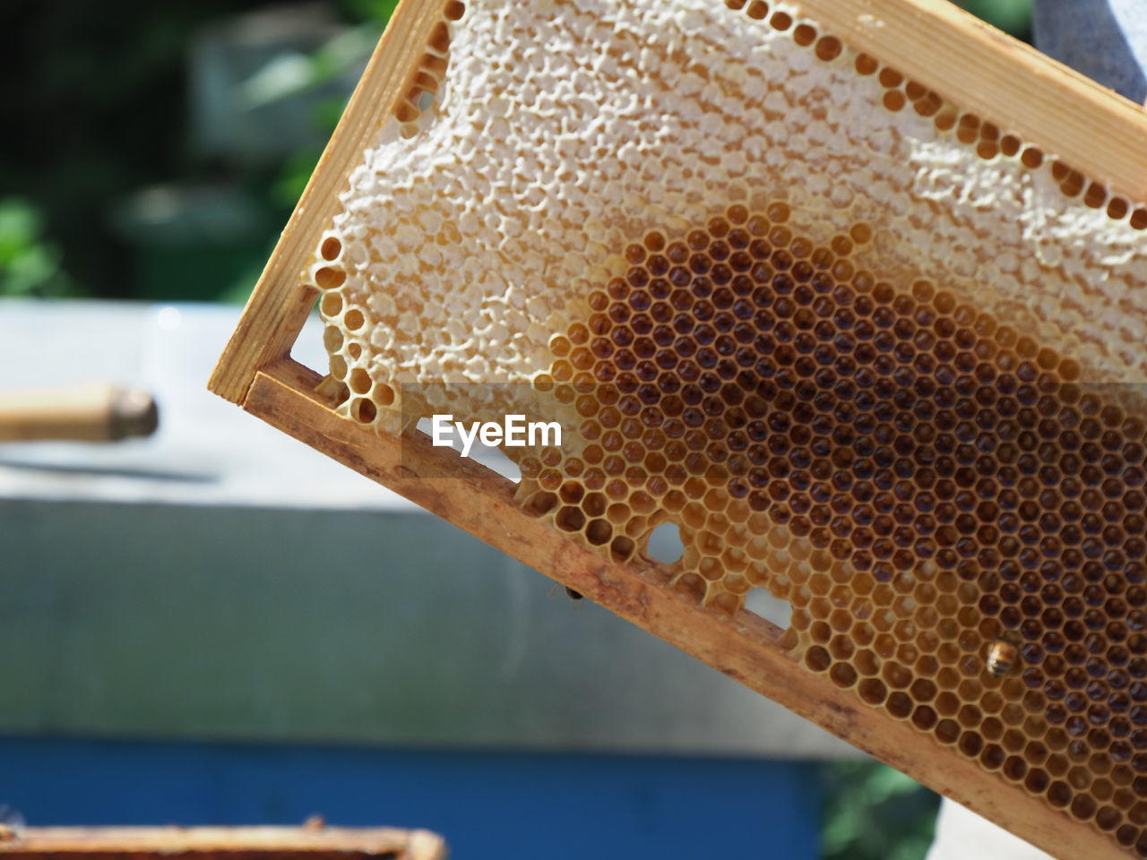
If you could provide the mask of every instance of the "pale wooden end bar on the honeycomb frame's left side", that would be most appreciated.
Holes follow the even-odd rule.
[[[315,237],[334,217],[338,193],[367,135],[382,126],[409,88],[430,33],[442,21],[442,6],[438,0],[403,0],[395,11],[211,374],[210,391],[242,402],[255,372],[290,352],[317,298],[299,279]]]

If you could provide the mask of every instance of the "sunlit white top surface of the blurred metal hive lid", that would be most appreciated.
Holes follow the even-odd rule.
[[[414,509],[206,390],[237,319],[216,305],[0,302],[0,389],[110,382],[159,406],[147,439],[0,444],[0,498]],[[309,320],[295,354],[320,372],[321,331]]]

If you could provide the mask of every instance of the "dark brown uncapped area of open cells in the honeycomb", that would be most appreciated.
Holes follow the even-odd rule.
[[[676,523],[689,600],[768,588],[810,671],[1142,852],[1138,400],[788,214],[624,249],[538,380],[585,447],[523,462],[526,510],[618,560]]]

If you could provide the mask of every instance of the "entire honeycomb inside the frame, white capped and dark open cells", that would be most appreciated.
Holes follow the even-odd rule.
[[[442,7],[303,273],[365,428],[1147,857],[1147,209],[762,0]]]

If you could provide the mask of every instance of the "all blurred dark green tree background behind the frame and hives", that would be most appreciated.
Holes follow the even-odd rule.
[[[0,5],[18,70],[7,76],[0,155],[0,296],[244,300],[396,2]],[[961,5],[1029,38],[1031,0]],[[305,38],[250,32],[276,30],[275,16],[291,10],[305,13]],[[250,14],[265,17],[212,38]],[[214,76],[223,116],[205,116],[212,62],[226,67],[229,47],[252,42],[263,52],[253,65],[223,85]],[[291,101],[297,110],[274,114]],[[289,146],[244,143],[231,134],[244,117]],[[282,122],[306,128],[280,134]],[[825,793],[826,860],[923,857],[938,804],[930,791],[881,765],[844,763],[827,766]]]

